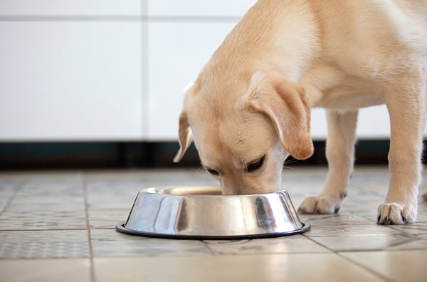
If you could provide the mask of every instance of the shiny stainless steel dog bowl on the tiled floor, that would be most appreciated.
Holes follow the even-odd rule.
[[[174,239],[243,239],[300,234],[300,221],[286,191],[222,195],[219,187],[142,189],[117,231]]]

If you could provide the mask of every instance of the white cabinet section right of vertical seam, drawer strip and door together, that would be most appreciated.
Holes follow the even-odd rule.
[[[254,0],[148,2],[149,140],[176,140],[183,90]]]

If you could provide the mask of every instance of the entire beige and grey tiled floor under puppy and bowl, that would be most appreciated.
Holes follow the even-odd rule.
[[[285,169],[283,187],[298,206],[325,174]],[[339,214],[302,215],[312,229],[301,235],[189,241],[115,231],[139,189],[176,184],[216,182],[197,169],[0,173],[0,281],[427,281],[427,202],[420,197],[416,224],[375,223],[386,167],[357,167]]]

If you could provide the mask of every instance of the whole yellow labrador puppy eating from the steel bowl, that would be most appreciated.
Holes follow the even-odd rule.
[[[304,213],[347,195],[359,108],[385,103],[389,192],[380,224],[416,221],[427,92],[427,0],[260,0],[187,90],[179,162],[194,139],[223,194],[280,189],[285,159],[313,153],[310,108],[327,109],[329,171]]]

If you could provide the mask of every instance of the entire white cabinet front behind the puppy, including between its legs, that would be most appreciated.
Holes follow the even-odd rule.
[[[176,140],[184,86],[253,2],[0,0],[0,141]],[[359,137],[388,135],[362,110]]]

